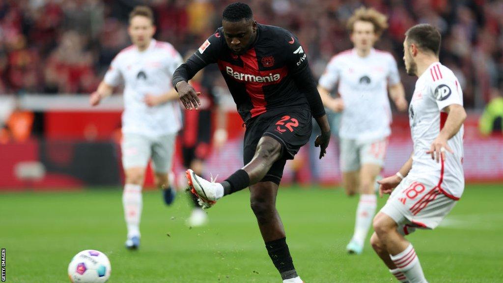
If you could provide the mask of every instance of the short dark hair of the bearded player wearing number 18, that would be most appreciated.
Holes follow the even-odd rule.
[[[439,30],[430,24],[415,25],[405,33],[407,43],[415,43],[419,49],[440,53],[440,42],[442,36]]]

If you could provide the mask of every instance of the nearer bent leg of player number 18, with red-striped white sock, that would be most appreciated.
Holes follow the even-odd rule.
[[[402,272],[410,283],[427,282],[414,247],[398,233],[397,228],[395,220],[388,215],[382,212],[376,215],[374,230],[396,267],[393,270]]]

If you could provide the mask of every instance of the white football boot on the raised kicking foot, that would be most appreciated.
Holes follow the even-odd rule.
[[[185,176],[189,181],[190,191],[197,196],[203,209],[210,208],[223,196],[223,187],[220,183],[205,180],[196,175],[191,169],[185,171]]]

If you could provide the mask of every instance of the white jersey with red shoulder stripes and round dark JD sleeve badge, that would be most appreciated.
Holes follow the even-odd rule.
[[[408,175],[437,178],[440,188],[448,196],[459,198],[464,188],[463,126],[448,140],[447,144],[454,154],[446,152],[445,161],[437,163],[426,153],[447,119],[447,113],[443,109],[452,104],[463,105],[463,92],[459,81],[448,67],[435,62],[417,79],[409,105],[414,152],[412,169]]]

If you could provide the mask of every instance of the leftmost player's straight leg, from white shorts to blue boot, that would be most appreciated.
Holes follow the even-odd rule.
[[[145,179],[145,168],[150,157],[150,142],[142,135],[124,134],[121,146],[125,173],[122,204],[128,231],[126,247],[136,249],[141,236],[140,219],[143,208],[141,190]]]

